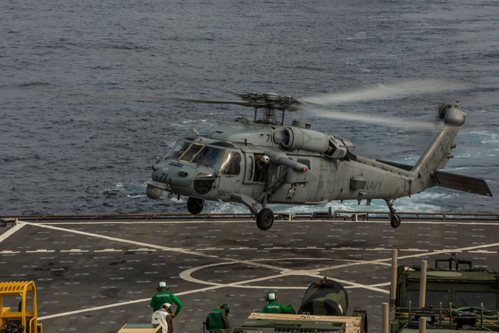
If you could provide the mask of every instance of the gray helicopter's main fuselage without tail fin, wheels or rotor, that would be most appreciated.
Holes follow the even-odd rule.
[[[149,185],[203,200],[233,202],[239,194],[263,206],[411,194],[409,171],[354,155],[353,148],[350,141],[303,123],[240,118],[206,135],[180,139],[153,166]],[[269,163],[262,162],[263,156]]]

